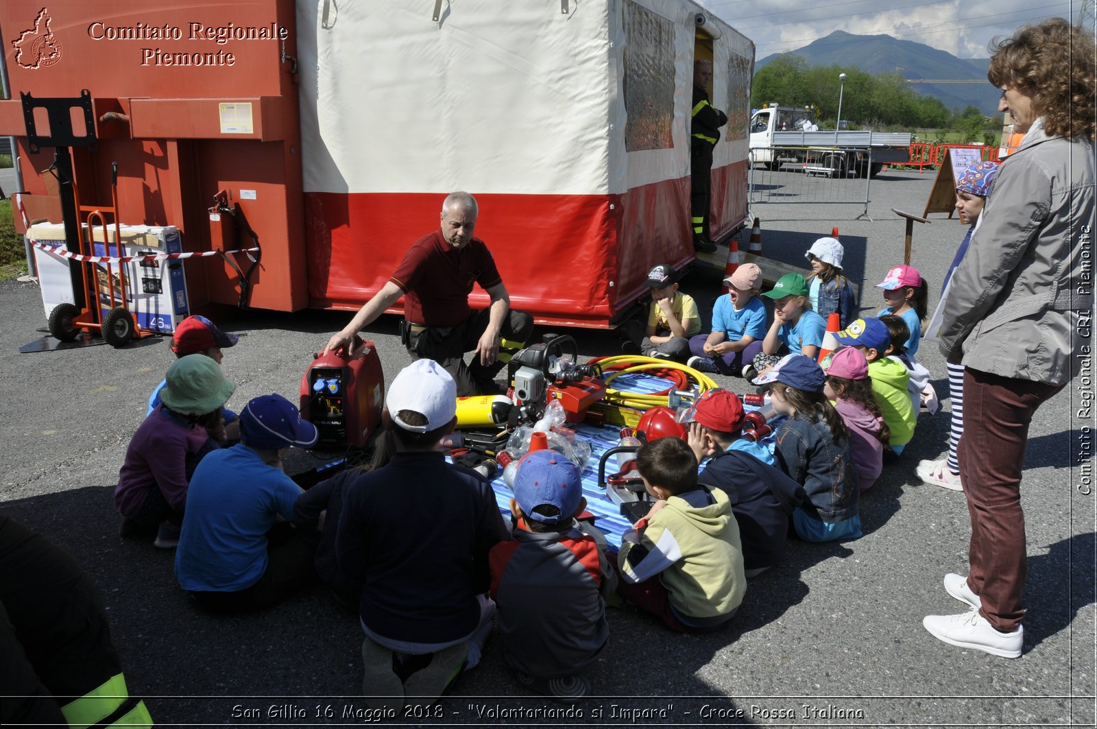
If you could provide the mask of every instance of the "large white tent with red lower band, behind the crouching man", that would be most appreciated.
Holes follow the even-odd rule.
[[[713,237],[744,223],[754,44],[688,0],[298,0],[297,36],[313,305],[361,304],[467,190],[513,306],[612,321],[693,257],[697,58],[730,116]]]

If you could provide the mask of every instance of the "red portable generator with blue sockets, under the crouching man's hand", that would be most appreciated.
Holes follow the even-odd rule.
[[[319,448],[364,448],[381,428],[385,375],[377,348],[354,337],[352,351],[315,356],[301,379],[301,415],[319,431]]]

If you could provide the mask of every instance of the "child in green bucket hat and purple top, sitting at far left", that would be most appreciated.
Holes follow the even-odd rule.
[[[203,355],[177,360],[166,381],[160,405],[126,448],[114,504],[123,516],[123,537],[156,529],[152,543],[174,549],[191,475],[206,453],[218,449],[207,426],[220,422],[220,408],[236,385]]]

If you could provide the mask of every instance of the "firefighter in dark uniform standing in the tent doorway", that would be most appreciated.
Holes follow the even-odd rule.
[[[709,83],[712,82],[712,61],[693,64],[693,121],[690,124],[690,165],[692,191],[690,209],[693,222],[693,247],[711,254],[716,244],[709,236],[709,213],[712,206],[712,148],[720,141],[720,127],[727,123],[727,114],[712,105]]]

